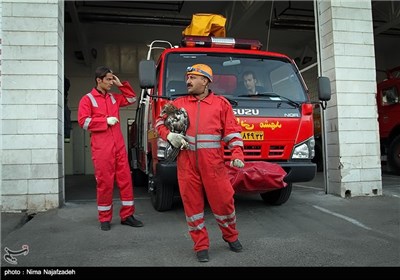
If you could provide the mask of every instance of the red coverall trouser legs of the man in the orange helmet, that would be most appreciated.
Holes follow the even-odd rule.
[[[198,168],[197,165],[200,167]],[[204,194],[225,240],[238,238],[234,190],[225,170],[221,149],[183,150],[178,155],[178,181],[193,249],[209,248],[204,220]]]

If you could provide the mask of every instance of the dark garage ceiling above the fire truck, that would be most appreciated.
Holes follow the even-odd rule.
[[[228,37],[258,39],[264,49],[291,53],[315,48],[313,1],[66,1],[71,24],[84,56],[87,42],[113,38],[123,28],[132,41],[179,43],[195,13],[222,14]],[[372,1],[376,37],[400,37],[400,2]]]

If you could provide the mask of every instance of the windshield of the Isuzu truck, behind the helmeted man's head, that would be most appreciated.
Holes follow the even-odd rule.
[[[277,96],[297,104],[308,101],[300,74],[288,59],[232,53],[169,53],[163,95],[186,94],[186,68],[198,63],[207,64],[213,70],[211,90],[231,100],[248,99],[249,88],[253,87],[258,94],[269,96],[272,101]]]

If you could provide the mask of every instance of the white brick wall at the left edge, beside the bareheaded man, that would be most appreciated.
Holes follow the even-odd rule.
[[[1,20],[2,211],[56,208],[64,200],[64,5],[5,0]]]

